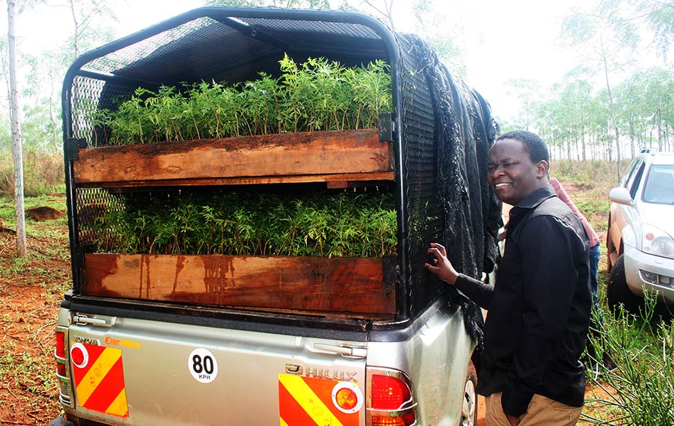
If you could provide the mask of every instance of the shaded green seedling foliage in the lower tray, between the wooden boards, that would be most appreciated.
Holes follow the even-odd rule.
[[[100,252],[381,257],[396,251],[389,193],[116,195],[94,224]]]

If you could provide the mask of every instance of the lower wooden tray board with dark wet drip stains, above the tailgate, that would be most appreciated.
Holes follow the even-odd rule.
[[[82,294],[283,310],[395,314],[373,258],[85,254]]]

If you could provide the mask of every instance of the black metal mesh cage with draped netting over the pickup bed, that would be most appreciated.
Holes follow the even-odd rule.
[[[432,49],[357,13],[208,7],[85,53],[66,74],[62,109],[75,292],[91,224],[101,206],[121,208],[116,195],[73,183],[78,148],[105,143],[94,114],[115,108],[138,87],[273,76],[284,54],[390,65],[399,319],[415,317],[446,288],[425,271],[429,242],[445,242],[466,273],[488,272],[499,218],[485,170],[495,125],[486,102],[454,80]]]

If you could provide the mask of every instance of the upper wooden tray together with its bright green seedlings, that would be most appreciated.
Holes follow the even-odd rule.
[[[393,180],[378,114],[391,110],[385,62],[345,67],[323,58],[236,85],[137,89],[96,114],[95,148],[78,150],[80,186],[206,186]]]

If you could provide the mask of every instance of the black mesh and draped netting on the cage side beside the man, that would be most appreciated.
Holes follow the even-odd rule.
[[[403,152],[411,312],[447,290],[461,303],[466,326],[481,337],[481,311],[424,268],[430,242],[441,242],[459,271],[475,278],[495,262],[500,206],[486,184],[495,124],[484,99],[452,78],[425,42],[399,37],[402,48]]]

